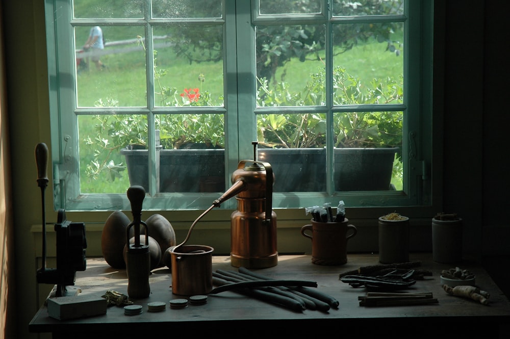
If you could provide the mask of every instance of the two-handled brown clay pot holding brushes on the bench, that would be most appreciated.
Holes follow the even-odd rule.
[[[301,227],[303,237],[312,239],[312,263],[343,265],[347,263],[347,240],[358,232],[356,226],[343,222],[317,222]]]

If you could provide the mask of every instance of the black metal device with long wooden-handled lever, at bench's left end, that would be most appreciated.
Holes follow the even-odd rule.
[[[58,219],[55,224],[57,246],[57,268],[46,267],[46,216],[44,205],[44,191],[48,184],[46,175],[48,148],[44,143],[39,143],[35,149],[36,163],[38,168],[38,186],[41,188],[42,200],[42,266],[37,270],[37,282],[56,284],[56,296],[66,294],[66,286],[74,285],[77,271],[85,271],[85,249],[87,240],[85,237],[85,224],[82,222],[70,222],[66,220],[65,211],[58,211]]]

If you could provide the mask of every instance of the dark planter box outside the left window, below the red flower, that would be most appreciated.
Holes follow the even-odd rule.
[[[225,191],[224,149],[159,150],[159,192]],[[125,156],[131,185],[148,190],[148,150],[127,149]]]

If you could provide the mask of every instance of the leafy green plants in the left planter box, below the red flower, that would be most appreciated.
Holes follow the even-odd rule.
[[[174,102],[180,106],[208,106],[210,96],[201,93],[197,101],[173,94]],[[205,101],[205,102],[204,102]],[[111,101],[100,100],[96,106],[112,107]],[[209,105],[210,106],[210,105]],[[114,181],[125,169],[123,163],[115,163],[111,156],[121,148],[134,145],[147,146],[148,125],[145,115],[95,115],[96,137],[87,136],[85,144],[93,150],[94,159],[87,164],[87,176],[97,178],[101,173]],[[224,148],[224,118],[222,114],[161,114],[155,117],[156,130],[160,133],[160,144],[164,149],[179,148]]]

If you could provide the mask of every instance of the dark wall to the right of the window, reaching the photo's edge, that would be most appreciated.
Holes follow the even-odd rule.
[[[508,2],[446,1],[444,7],[444,211],[464,219],[464,247],[482,255],[510,254],[504,138],[508,63]],[[435,74],[435,77],[441,74]]]

